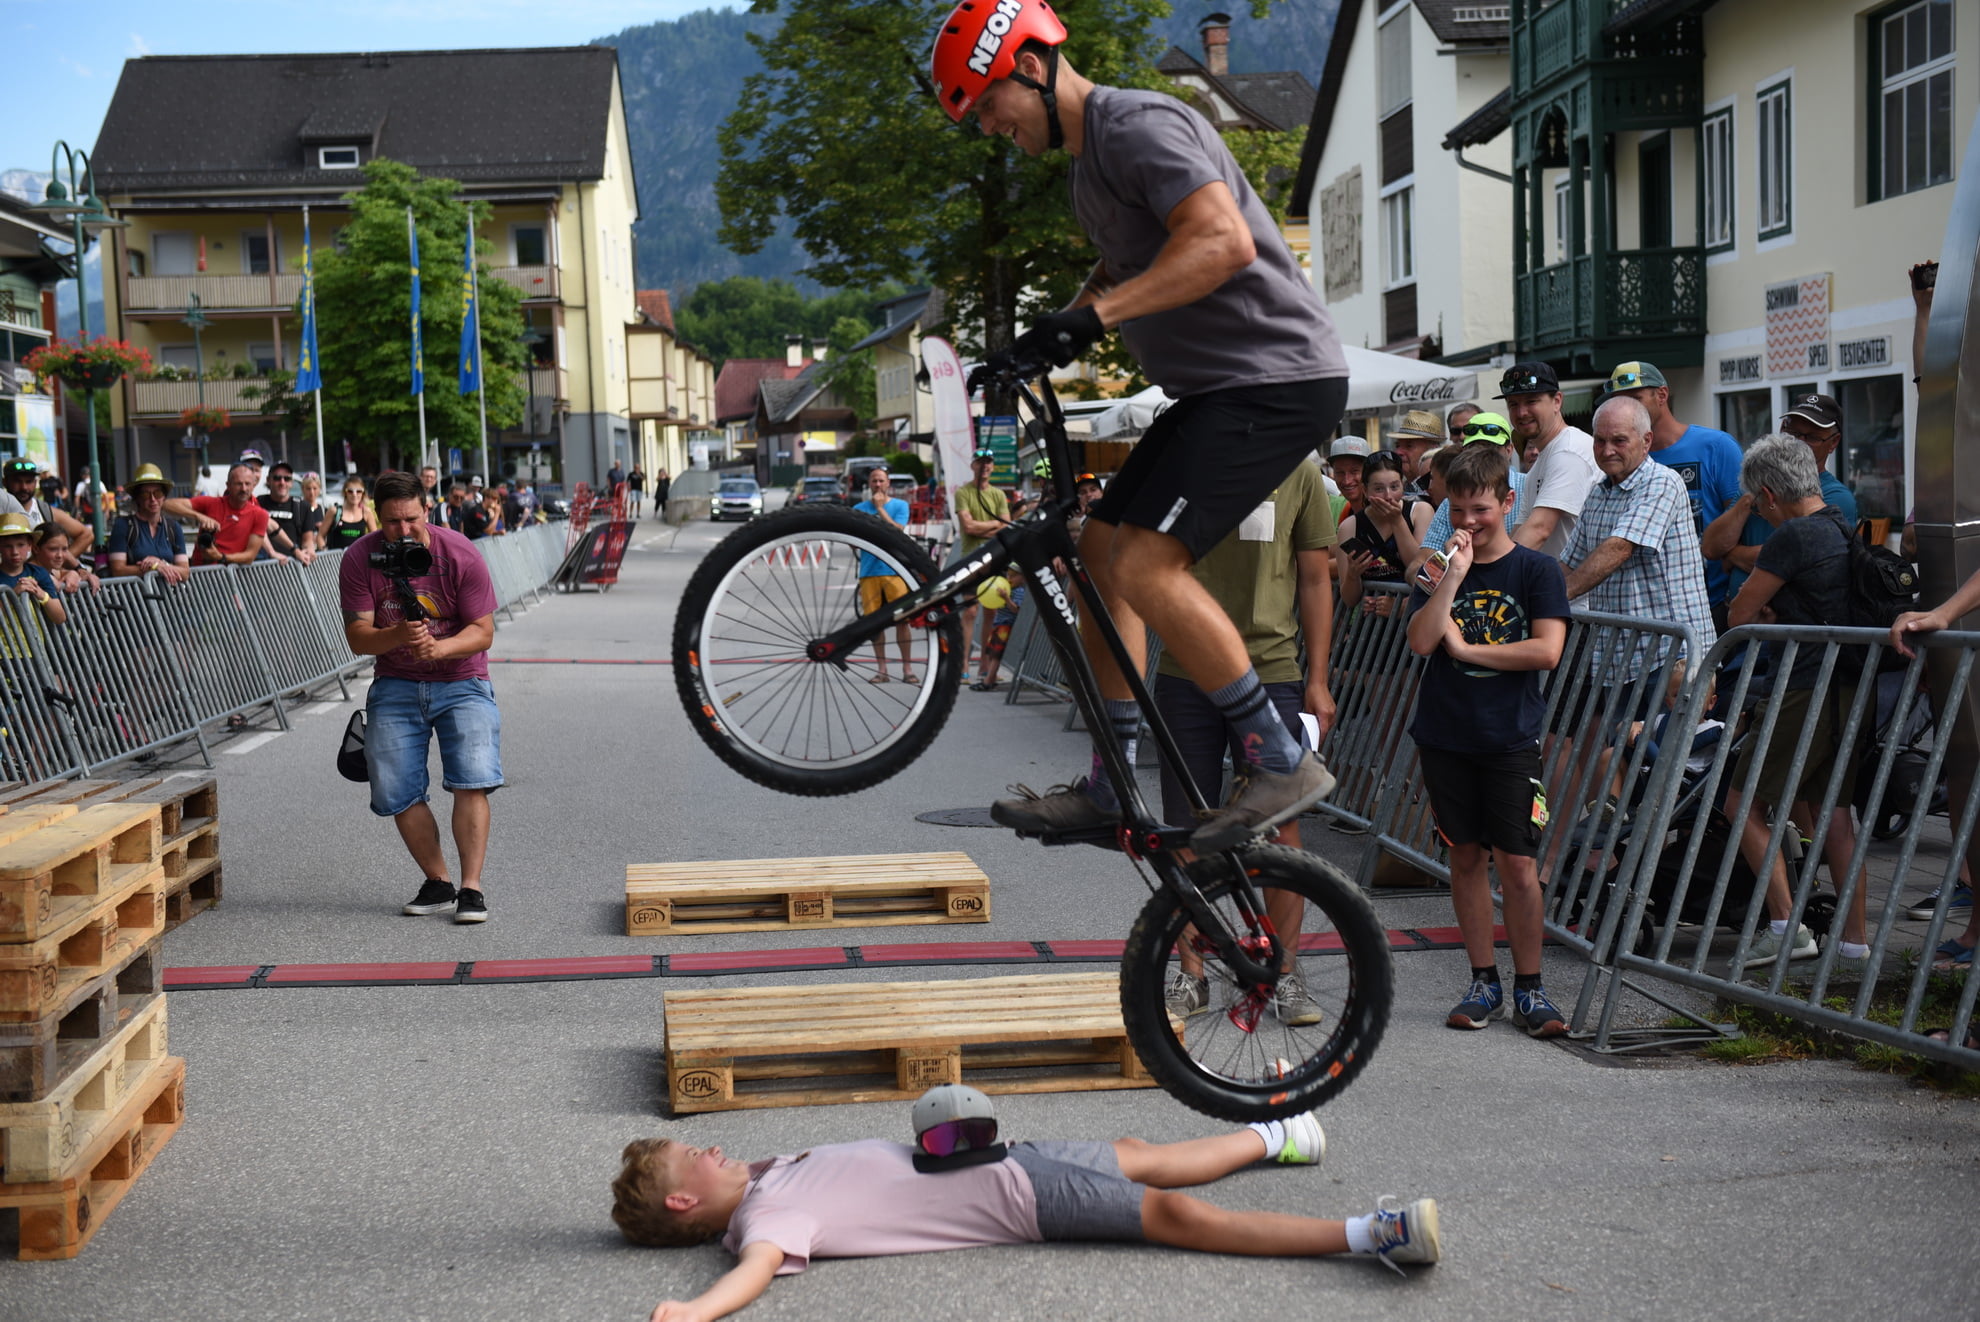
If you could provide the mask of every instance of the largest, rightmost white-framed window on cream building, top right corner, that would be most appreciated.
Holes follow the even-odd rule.
[[[1871,20],[1879,198],[1952,178],[1952,0],[1917,0]]]

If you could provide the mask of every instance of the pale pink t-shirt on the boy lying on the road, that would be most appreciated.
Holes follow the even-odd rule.
[[[863,1259],[980,1245],[1030,1245],[1032,1178],[1012,1160],[923,1176],[907,1144],[867,1138],[750,1164],[750,1185],[723,1247],[784,1251],[778,1276],[812,1259]]]

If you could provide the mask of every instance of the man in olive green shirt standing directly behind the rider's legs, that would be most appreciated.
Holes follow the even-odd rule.
[[[1303,748],[1307,734],[1301,712],[1319,722],[1323,736],[1335,724],[1335,697],[1327,689],[1327,655],[1335,629],[1335,540],[1333,501],[1319,465],[1309,461],[1293,469],[1255,511],[1245,515],[1236,532],[1190,570],[1238,625],[1265,697]],[[1299,665],[1301,639],[1307,643],[1305,671]],[[1238,730],[1210,695],[1196,687],[1172,651],[1164,651],[1154,667],[1154,707],[1182,748],[1190,780],[1212,805],[1218,803],[1226,748],[1232,752],[1234,768],[1241,770],[1249,760],[1238,742]],[[1196,819],[1190,796],[1168,766],[1162,768],[1162,817],[1170,825],[1190,825]],[[1299,821],[1279,827],[1277,841],[1299,849]],[[1279,940],[1287,950],[1295,950],[1303,918],[1301,898],[1289,891],[1267,891],[1265,906]],[[1188,950],[1182,954],[1182,970],[1168,988],[1168,1009],[1178,1019],[1210,1009],[1210,986],[1202,976],[1202,964]],[[1321,1019],[1319,1005],[1293,970],[1279,980],[1273,1009],[1281,1023],[1291,1027]]]

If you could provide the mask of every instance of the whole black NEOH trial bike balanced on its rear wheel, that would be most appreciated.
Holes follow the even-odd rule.
[[[845,507],[806,505],[744,524],[701,562],[675,617],[673,673],[689,720],[723,762],[772,790],[832,796],[877,786],[948,720],[966,655],[960,614],[976,586],[1018,572],[1085,728],[1109,722],[1079,612],[1097,621],[1158,756],[1202,813],[1204,792],[1067,532],[1077,501],[1051,382],[1041,364],[1004,366],[992,380],[1028,412],[1028,431],[1051,461],[1049,499],[946,568],[893,524]],[[861,574],[901,578],[909,592],[861,612]],[[905,669],[901,625],[913,661]],[[875,643],[893,663],[885,683]],[[1368,1065],[1394,993],[1388,938],[1368,898],[1340,869],[1297,849],[1247,843],[1194,855],[1192,827],[1166,825],[1150,809],[1119,742],[1101,738],[1097,748],[1119,790],[1121,823],[1040,841],[1119,849],[1148,887],[1121,958],[1121,1017],[1146,1071],[1184,1104],[1226,1120],[1289,1116],[1335,1096]],[[1271,891],[1303,900],[1297,932],[1275,928]],[[1176,1019],[1166,990],[1186,954],[1200,960],[1210,1005]],[[1317,1021],[1281,1019],[1273,992],[1289,970],[1319,1003]]]

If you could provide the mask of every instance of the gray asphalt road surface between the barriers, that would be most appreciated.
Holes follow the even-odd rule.
[[[509,788],[495,796],[493,920],[404,918],[418,887],[390,825],[331,756],[348,707],[224,744],[226,902],[164,942],[168,966],[543,958],[816,946],[816,934],[628,938],[628,863],[966,849],[994,922],[845,930],[832,942],[1119,938],[1140,891],[1117,855],[1041,851],[915,813],[982,805],[1085,762],[1059,708],[962,693],[911,774],[843,800],[758,790],[709,756],[653,661],[697,558],[727,528],[642,524],[622,584],[556,598],[497,635]],[[335,697],[335,695],[333,695]],[[242,750],[246,748],[246,750]],[[436,766],[438,780],[438,766]],[[1350,845],[1317,833],[1323,853]],[[1449,922],[1384,898],[1388,926]],[[1572,995],[1578,966],[1548,956]],[[948,978],[982,968],[697,980]],[[822,1263],[752,1318],[1835,1318],[1970,1316],[1980,1106],[1835,1063],[1592,1061],[1507,1025],[1451,1033],[1459,952],[1398,956],[1398,1005],[1323,1120],[1319,1170],[1259,1168],[1208,1197],[1313,1215],[1436,1195],[1445,1261],[1188,1257],[1040,1245]],[[719,1249],[620,1243],[620,1146],[671,1132],[735,1156],[907,1138],[897,1104],[669,1120],[665,980],[176,992],[184,1130],[81,1259],[10,1261],[0,1318],[642,1318],[725,1267]],[[1651,1013],[1634,1005],[1632,1013]],[[1176,1140],[1212,1122],[1160,1092],[1002,1098],[1006,1134]]]

